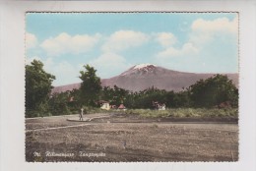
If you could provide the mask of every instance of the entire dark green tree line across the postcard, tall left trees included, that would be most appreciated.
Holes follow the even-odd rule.
[[[215,75],[200,80],[179,92],[149,87],[141,91],[129,91],[114,85],[100,85],[96,70],[89,65],[80,72],[80,89],[51,94],[54,76],[43,70],[40,61],[26,66],[26,116],[45,114],[63,115],[77,113],[82,106],[99,107],[98,100],[110,105],[124,104],[127,108],[153,108],[153,101],[164,103],[167,108],[216,107],[228,102],[230,107],[238,106],[238,89],[224,75]]]

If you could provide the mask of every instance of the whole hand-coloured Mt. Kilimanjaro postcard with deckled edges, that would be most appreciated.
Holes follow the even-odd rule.
[[[238,15],[27,13],[26,161],[238,161]]]

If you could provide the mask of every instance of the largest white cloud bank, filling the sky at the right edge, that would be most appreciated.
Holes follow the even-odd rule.
[[[180,71],[237,72],[238,19],[195,20],[182,44],[166,45],[156,63]],[[186,67],[185,67],[186,66]]]

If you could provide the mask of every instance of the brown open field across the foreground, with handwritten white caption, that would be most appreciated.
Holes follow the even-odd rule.
[[[91,114],[26,120],[27,161],[237,161],[238,125]],[[71,121],[67,121],[70,119]],[[74,122],[72,122],[74,121]]]

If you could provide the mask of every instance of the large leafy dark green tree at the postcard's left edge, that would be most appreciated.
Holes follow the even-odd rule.
[[[30,111],[46,112],[53,80],[55,76],[43,70],[42,62],[33,60],[26,65],[26,117],[32,117]]]

